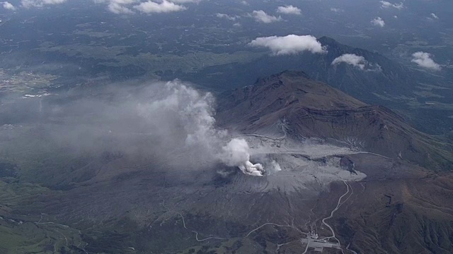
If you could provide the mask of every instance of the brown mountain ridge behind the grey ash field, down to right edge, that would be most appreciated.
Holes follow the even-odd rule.
[[[220,123],[242,132],[262,133],[283,122],[280,126],[296,138],[322,138],[431,169],[449,169],[453,162],[447,145],[393,111],[369,106],[302,72],[259,79],[220,98]]]

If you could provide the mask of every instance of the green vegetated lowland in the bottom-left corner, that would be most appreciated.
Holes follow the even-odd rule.
[[[83,253],[86,243],[79,230],[30,215],[40,207],[36,198],[51,193],[37,184],[17,179],[0,181],[0,253]],[[27,208],[29,207],[29,208]],[[23,214],[16,214],[22,210]]]

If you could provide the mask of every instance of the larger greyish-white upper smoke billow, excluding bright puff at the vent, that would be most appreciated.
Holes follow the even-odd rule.
[[[226,135],[214,128],[214,97],[210,92],[204,95],[179,80],[173,80],[157,90],[146,104],[139,104],[142,116],[149,119],[149,127],[159,132],[164,142],[173,140],[171,135],[183,135],[185,145],[197,147],[203,152],[214,151],[219,139]],[[176,128],[176,130],[175,130]],[[182,128],[183,130],[180,130]]]

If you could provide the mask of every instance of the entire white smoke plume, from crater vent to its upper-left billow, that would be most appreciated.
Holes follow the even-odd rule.
[[[184,141],[173,142],[170,147],[185,146],[186,150],[197,154],[195,162],[220,161],[226,166],[238,167],[243,174],[263,176],[263,165],[250,162],[246,140],[234,138],[227,142],[228,133],[215,127],[214,97],[210,92],[202,94],[178,80],[153,92],[150,102],[140,104],[139,110],[150,119],[150,128],[159,131],[163,143],[171,141],[173,137],[169,135],[176,132],[167,130],[180,126],[178,133]]]

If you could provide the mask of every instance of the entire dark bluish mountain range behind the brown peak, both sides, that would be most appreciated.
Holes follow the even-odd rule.
[[[229,63],[183,75],[187,80],[219,91],[253,83],[256,77],[285,70],[304,71],[310,78],[328,83],[369,104],[397,110],[418,130],[427,133],[453,131],[453,87],[442,73],[403,66],[365,49],[340,44],[329,37],[319,38],[326,54],[265,55],[249,63]],[[369,66],[360,69],[347,63],[333,65],[343,54],[362,56]]]

